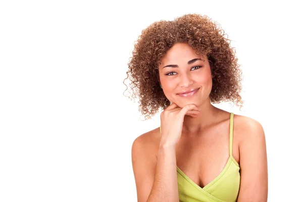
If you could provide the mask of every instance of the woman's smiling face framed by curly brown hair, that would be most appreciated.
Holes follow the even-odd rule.
[[[213,85],[209,61],[196,55],[188,44],[176,43],[167,51],[159,74],[165,96],[180,108],[189,104],[198,107],[209,99]]]

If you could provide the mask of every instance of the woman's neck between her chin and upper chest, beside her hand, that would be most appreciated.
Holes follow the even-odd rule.
[[[204,127],[211,125],[220,109],[213,106],[210,98],[205,100],[203,105],[197,106],[200,113],[196,118],[185,115],[182,132],[186,134],[199,133]]]

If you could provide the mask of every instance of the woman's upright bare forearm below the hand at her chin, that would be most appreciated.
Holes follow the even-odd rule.
[[[179,201],[175,146],[159,147],[154,184],[147,199],[151,201]]]

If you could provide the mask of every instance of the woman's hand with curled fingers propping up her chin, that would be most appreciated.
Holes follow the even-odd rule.
[[[160,144],[175,146],[181,137],[184,116],[196,118],[199,113],[198,108],[193,104],[179,108],[173,103],[167,107],[160,115],[162,133]]]

